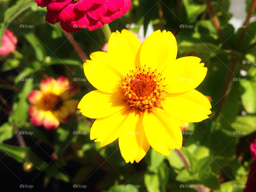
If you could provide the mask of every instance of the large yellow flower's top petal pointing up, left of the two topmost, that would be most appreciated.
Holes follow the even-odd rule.
[[[136,66],[140,67],[140,48],[141,42],[139,39],[133,33],[124,29],[121,33],[116,31],[111,34],[107,53],[115,61],[116,67],[125,76],[129,73],[129,70],[134,70]]]

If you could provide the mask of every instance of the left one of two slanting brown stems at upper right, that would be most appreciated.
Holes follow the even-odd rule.
[[[214,13],[213,7],[211,6],[211,1],[210,0],[205,0],[207,3],[207,7],[208,7],[208,11],[211,17],[211,21],[213,22],[213,25],[215,27],[215,29],[217,30],[218,34],[219,34],[219,38],[221,39],[221,41],[223,43],[225,43],[225,45],[227,47],[229,47],[229,44],[226,41],[226,38],[221,30],[221,24],[219,23],[219,19],[217,17],[217,15]]]

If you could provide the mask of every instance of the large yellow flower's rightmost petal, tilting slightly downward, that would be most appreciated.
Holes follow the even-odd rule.
[[[162,107],[173,117],[186,122],[199,122],[209,118],[211,104],[200,92],[191,90],[186,93],[168,94]]]

